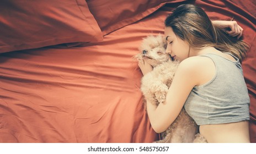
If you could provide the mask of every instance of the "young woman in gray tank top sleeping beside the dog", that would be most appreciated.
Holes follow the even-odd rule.
[[[158,107],[147,103],[152,128],[166,130],[184,106],[208,142],[250,142],[242,28],[236,21],[211,21],[201,8],[183,4],[167,17],[164,35],[166,53],[180,65],[166,101]],[[153,69],[145,62],[138,66],[143,75]]]

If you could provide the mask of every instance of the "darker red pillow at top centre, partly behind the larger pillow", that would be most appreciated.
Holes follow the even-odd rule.
[[[90,11],[97,20],[103,35],[123,26],[135,23],[162,7],[165,3],[185,0],[86,0]]]

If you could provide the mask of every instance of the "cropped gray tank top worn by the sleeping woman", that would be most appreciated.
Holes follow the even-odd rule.
[[[238,58],[232,62],[217,54],[201,56],[212,59],[216,74],[208,83],[193,88],[184,105],[186,112],[198,125],[249,120],[250,99]]]

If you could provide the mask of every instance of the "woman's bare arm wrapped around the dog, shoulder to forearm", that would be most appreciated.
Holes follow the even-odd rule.
[[[165,131],[174,122],[191,90],[202,78],[198,64],[198,59],[195,61],[195,58],[182,61],[167,92],[166,101],[160,103],[158,107],[147,102],[148,117],[157,133]]]

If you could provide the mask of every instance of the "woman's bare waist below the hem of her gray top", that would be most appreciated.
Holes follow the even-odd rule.
[[[200,134],[208,142],[250,142],[248,120],[227,124],[200,125]]]

